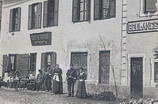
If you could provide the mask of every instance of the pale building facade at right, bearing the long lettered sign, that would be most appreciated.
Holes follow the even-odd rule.
[[[133,96],[157,96],[157,3],[157,0],[128,0],[127,85]]]

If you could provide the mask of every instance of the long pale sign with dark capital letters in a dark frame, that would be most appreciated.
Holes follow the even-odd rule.
[[[150,20],[131,21],[127,24],[127,33],[158,32],[158,18]]]

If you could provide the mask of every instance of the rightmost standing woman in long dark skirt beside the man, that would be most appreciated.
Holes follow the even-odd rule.
[[[79,98],[86,98],[87,97],[86,85],[85,85],[86,78],[87,78],[87,73],[81,67],[80,72],[79,72],[79,76],[78,76],[78,88],[77,88],[76,97],[79,97]]]

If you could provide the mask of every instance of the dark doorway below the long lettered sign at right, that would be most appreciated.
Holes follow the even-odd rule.
[[[143,97],[143,58],[131,58],[131,97]]]

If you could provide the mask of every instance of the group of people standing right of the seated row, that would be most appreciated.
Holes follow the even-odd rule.
[[[66,73],[68,97],[74,97],[75,84],[77,84],[76,97],[87,97],[85,85],[86,77],[87,73],[84,68],[80,67],[80,69],[74,69],[73,65],[71,65]],[[48,66],[46,70],[39,70],[36,88],[37,90],[53,91],[54,94],[63,94],[62,69],[58,64]]]

